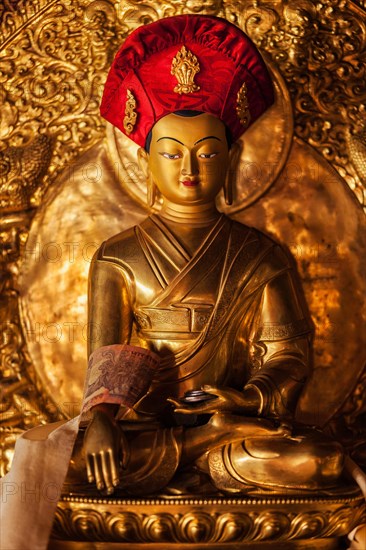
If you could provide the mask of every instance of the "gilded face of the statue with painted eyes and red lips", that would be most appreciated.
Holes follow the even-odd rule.
[[[146,160],[153,181],[167,200],[176,204],[210,202],[222,188],[229,166],[225,126],[206,113],[194,117],[169,114],[153,127]]]

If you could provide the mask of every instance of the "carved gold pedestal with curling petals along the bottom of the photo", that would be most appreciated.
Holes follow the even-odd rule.
[[[49,550],[333,550],[364,514],[356,487],[260,498],[65,496]]]

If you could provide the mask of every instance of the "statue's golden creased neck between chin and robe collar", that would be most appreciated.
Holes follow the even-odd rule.
[[[175,223],[207,227],[217,221],[220,212],[214,201],[206,204],[185,205],[164,200],[160,216]]]

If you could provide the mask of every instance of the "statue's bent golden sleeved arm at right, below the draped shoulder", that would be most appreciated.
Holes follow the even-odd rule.
[[[310,370],[311,324],[292,269],[263,290],[249,336],[251,376],[244,388],[259,397],[257,414],[291,417]]]

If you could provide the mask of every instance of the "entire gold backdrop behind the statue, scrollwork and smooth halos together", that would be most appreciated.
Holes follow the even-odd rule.
[[[91,256],[146,215],[134,146],[99,116],[103,83],[132,29],[180,13],[238,24],[274,74],[276,104],[244,139],[229,213],[272,234],[297,262],[315,326],[299,418],[337,431],[366,462],[364,3],[5,0],[1,474],[23,430],[78,412]]]

